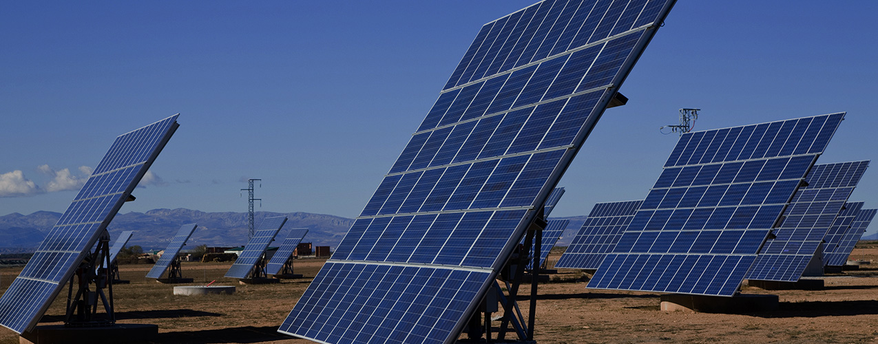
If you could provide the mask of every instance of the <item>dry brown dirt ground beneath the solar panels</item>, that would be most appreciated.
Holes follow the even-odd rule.
[[[557,259],[553,252],[550,261]],[[553,282],[539,285],[535,339],[545,343],[878,341],[878,245],[860,245],[851,259],[876,266],[826,276],[825,290],[746,287],[744,293],[775,294],[781,300],[779,311],[751,314],[662,312],[659,294],[587,290],[587,275],[561,270],[552,276]],[[313,277],[323,262],[299,260],[295,269]],[[310,342],[276,332],[310,278],[239,285],[222,277],[229,266],[184,263],[184,276],[195,278],[193,284],[216,279],[214,284],[238,287],[234,295],[204,297],[174,296],[173,285],[145,277],[151,266],[121,266],[121,277],[131,284],[113,289],[118,322],[158,325],[156,342]],[[20,270],[0,269],[0,290],[5,291]],[[528,286],[522,286],[520,295],[527,294]],[[55,300],[40,325],[61,324],[65,297]],[[520,301],[520,306],[526,313],[527,301]],[[0,328],[0,343],[14,342],[18,335]]]

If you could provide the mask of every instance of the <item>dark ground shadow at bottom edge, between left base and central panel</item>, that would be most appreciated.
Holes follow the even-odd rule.
[[[289,340],[292,337],[278,333],[277,326],[243,326],[216,330],[179,331],[159,333],[155,343],[257,343],[273,340]]]

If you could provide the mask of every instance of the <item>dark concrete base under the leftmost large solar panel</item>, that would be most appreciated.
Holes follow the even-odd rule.
[[[32,332],[21,333],[18,343],[133,343],[153,341],[159,326],[148,324],[116,324],[101,327],[37,326]]]

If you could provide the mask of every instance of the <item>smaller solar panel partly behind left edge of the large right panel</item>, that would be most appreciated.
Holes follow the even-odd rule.
[[[579,233],[555,263],[555,268],[598,269],[604,257],[613,252],[615,244],[622,238],[622,233],[643,202],[594,204]]]

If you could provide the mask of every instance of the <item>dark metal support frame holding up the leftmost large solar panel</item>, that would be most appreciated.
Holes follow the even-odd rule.
[[[116,315],[113,312],[112,278],[109,278],[110,269],[103,268],[104,266],[111,266],[110,235],[106,232],[97,241],[95,252],[86,255],[76,269],[76,273],[70,276],[64,326],[95,327],[116,324]],[[73,292],[74,284],[76,284],[76,294]],[[104,289],[107,290],[105,294]],[[98,299],[104,305],[105,317],[97,316]]]

